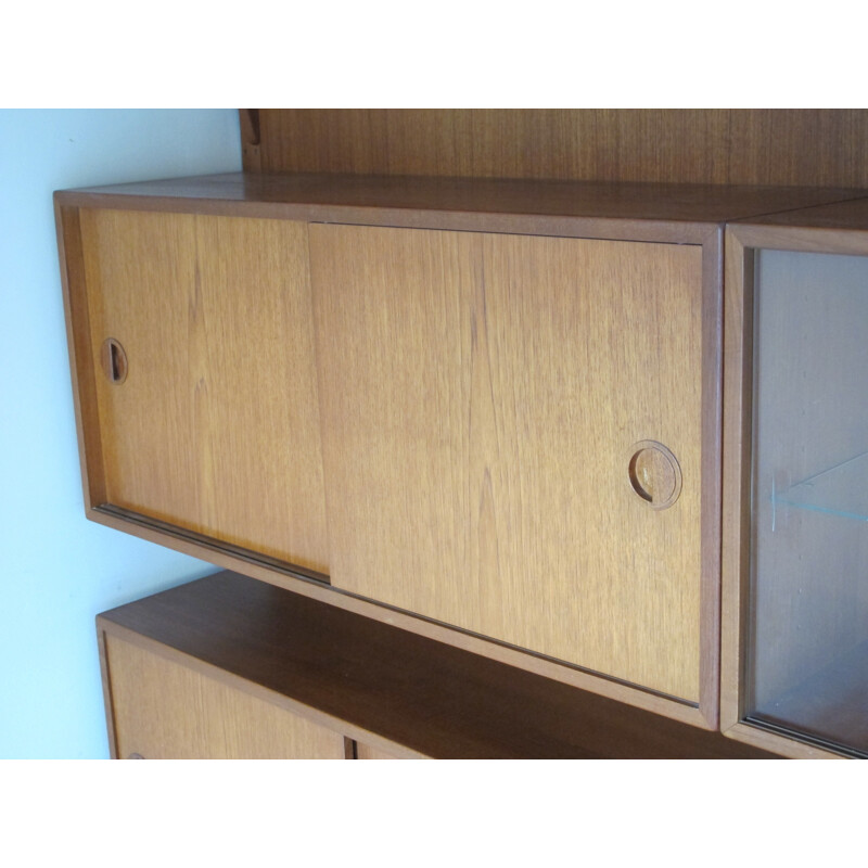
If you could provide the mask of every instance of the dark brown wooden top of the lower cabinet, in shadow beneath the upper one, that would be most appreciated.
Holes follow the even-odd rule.
[[[219,573],[98,626],[149,637],[239,691],[292,698],[361,743],[442,758],[773,758],[774,753]],[[191,668],[190,665],[187,668]],[[220,673],[224,674],[221,678]]]

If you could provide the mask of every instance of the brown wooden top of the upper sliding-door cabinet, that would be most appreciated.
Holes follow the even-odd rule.
[[[691,241],[691,234],[706,232],[710,224],[860,196],[868,196],[868,190],[235,173],[64,191],[58,203],[567,234],[576,228],[575,220],[584,221],[591,233],[595,221],[599,231],[610,221],[653,221],[674,224],[678,240]]]

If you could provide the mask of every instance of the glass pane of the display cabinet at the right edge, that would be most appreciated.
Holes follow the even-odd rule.
[[[755,260],[749,717],[868,754],[868,258]]]

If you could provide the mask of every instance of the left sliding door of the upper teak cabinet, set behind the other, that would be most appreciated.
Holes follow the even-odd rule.
[[[80,226],[105,500],[328,572],[306,225],[82,209]]]

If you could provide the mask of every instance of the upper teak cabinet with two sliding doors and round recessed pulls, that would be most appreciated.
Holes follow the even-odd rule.
[[[725,290],[725,227],[859,195],[244,175],[59,193],[88,512],[716,729],[722,557],[738,583],[751,557],[749,376],[724,365],[748,266],[728,242]]]

